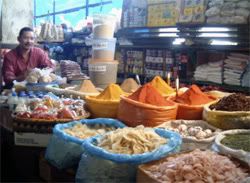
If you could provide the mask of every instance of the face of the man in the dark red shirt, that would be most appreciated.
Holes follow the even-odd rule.
[[[35,36],[32,31],[25,31],[23,34],[18,37],[18,41],[22,49],[29,50],[34,46]]]

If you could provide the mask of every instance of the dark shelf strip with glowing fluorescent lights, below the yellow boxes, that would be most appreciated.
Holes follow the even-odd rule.
[[[171,27],[123,28],[117,32],[116,36],[119,38],[118,42],[121,48],[191,48],[249,51],[249,29],[248,24],[177,24]],[[123,42],[122,39],[124,38],[132,42],[132,45]],[[180,41],[180,38],[188,43],[178,43],[177,41]]]

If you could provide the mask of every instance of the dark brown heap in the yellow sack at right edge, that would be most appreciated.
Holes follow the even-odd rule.
[[[210,106],[211,110],[220,111],[250,111],[250,98],[243,94],[232,94],[223,97],[216,104]]]

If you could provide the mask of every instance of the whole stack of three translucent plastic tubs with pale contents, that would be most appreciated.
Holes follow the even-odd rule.
[[[116,83],[118,62],[114,60],[116,38],[114,35],[115,17],[94,16],[92,59],[89,60],[89,76],[96,87],[105,88]]]

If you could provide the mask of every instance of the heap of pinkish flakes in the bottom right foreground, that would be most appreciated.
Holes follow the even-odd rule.
[[[246,169],[240,168],[228,157],[210,150],[194,150],[152,166],[143,167],[159,182],[230,182],[240,183],[247,177]]]

